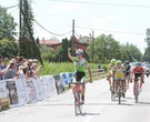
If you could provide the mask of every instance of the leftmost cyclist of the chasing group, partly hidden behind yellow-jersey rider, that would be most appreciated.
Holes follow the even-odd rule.
[[[111,90],[111,78],[113,75],[114,67],[116,67],[116,59],[111,59],[110,64],[109,64],[109,72],[108,72],[108,75],[107,75],[107,80],[109,81],[110,90]]]

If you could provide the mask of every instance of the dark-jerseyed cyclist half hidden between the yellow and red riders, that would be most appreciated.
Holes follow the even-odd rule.
[[[126,87],[129,89],[129,83],[130,83],[130,78],[131,78],[131,65],[129,61],[124,62],[124,68],[126,68]]]

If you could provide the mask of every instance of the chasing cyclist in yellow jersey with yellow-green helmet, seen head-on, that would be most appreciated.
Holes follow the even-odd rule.
[[[120,79],[122,82],[122,95],[124,98],[124,92],[126,92],[126,89],[124,89],[124,82],[126,82],[126,69],[122,65],[122,61],[121,60],[117,60],[117,65],[116,68],[113,69],[113,73],[114,73],[114,92],[117,94],[117,91],[118,91],[118,80]]]

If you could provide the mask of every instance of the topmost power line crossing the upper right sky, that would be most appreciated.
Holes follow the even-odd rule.
[[[69,0],[51,0],[51,1],[73,2],[73,3],[92,4],[92,6],[118,6],[118,7],[150,8],[150,6],[138,6],[138,4],[100,3],[100,2],[83,2],[83,1],[69,1]]]

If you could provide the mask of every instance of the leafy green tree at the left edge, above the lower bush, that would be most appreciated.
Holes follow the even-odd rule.
[[[0,40],[14,40],[14,35],[17,34],[16,26],[13,17],[7,12],[6,8],[0,6]]]

